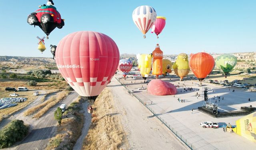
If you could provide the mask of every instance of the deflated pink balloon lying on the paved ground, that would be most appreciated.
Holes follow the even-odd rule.
[[[149,94],[157,96],[175,95],[177,94],[177,88],[169,82],[155,79],[149,82],[148,92]]]

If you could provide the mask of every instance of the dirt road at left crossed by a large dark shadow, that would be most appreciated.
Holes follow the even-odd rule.
[[[76,100],[77,97],[78,94],[76,92],[71,92],[67,98],[48,110],[48,112],[38,120],[28,116],[18,118],[30,125],[31,132],[23,141],[18,142],[16,146],[12,148],[7,148],[7,150],[44,150],[56,131],[57,122],[53,117],[54,111],[63,103],[68,106],[71,102]]]

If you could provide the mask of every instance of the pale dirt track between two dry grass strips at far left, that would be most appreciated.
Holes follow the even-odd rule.
[[[32,103],[28,104],[28,106],[26,106],[22,110],[12,114],[12,116],[10,116],[9,118],[2,120],[2,122],[0,122],[0,128],[2,128],[3,126],[5,126],[6,124],[8,124],[9,122],[11,122],[14,119],[24,118],[25,120],[27,120],[28,117],[27,118],[24,117],[23,112],[25,112],[25,110],[27,110],[31,107],[34,107],[34,106],[38,105],[39,103],[41,103],[42,97],[44,96],[44,94],[46,94],[46,91],[44,91],[44,90],[38,90],[38,91],[40,92],[40,94],[38,95],[38,98],[36,98]]]

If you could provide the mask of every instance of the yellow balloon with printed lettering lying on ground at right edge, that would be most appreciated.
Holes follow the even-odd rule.
[[[236,120],[236,128],[232,130],[236,134],[256,142],[256,112]]]

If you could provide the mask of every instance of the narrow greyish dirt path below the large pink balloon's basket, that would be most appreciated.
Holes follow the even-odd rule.
[[[78,140],[76,141],[76,144],[73,147],[73,150],[81,150],[82,145],[83,145],[83,140],[86,137],[90,124],[91,124],[91,120],[92,120],[92,115],[89,114],[87,112],[87,107],[88,107],[88,103],[84,103],[83,104],[83,108],[84,108],[84,127],[82,129],[82,135],[78,138]]]

